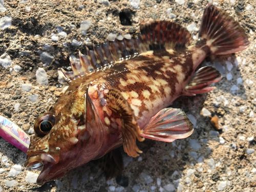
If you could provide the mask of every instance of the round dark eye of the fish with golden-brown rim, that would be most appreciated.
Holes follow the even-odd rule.
[[[34,131],[37,136],[43,137],[48,134],[55,123],[55,117],[53,114],[47,113],[39,115],[34,123]]]

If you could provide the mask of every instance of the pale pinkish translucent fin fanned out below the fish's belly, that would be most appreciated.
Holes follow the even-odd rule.
[[[141,136],[157,141],[173,142],[190,136],[193,131],[193,124],[182,110],[165,108],[151,118]]]

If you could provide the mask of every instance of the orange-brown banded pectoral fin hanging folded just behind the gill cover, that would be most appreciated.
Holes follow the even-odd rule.
[[[120,116],[124,152],[132,157],[139,156],[138,153],[142,153],[142,151],[139,150],[136,139],[143,141],[144,138],[140,136],[141,130],[130,104],[123,98],[120,91],[116,89],[108,92],[106,101],[112,112]]]

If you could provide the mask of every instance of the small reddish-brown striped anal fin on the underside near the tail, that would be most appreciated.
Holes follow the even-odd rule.
[[[215,87],[210,87],[209,85],[220,80],[221,74],[215,68],[210,66],[202,67],[185,87],[183,95],[193,96],[200,93],[208,93],[215,89]]]

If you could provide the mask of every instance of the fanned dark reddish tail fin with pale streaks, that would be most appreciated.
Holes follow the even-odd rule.
[[[238,22],[211,4],[204,10],[199,37],[206,40],[206,45],[215,55],[235,53],[249,45]]]

